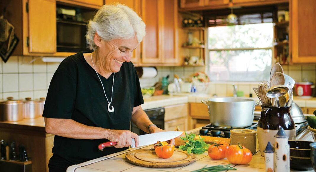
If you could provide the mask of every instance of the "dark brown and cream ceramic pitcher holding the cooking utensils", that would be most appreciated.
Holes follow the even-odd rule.
[[[274,136],[278,128],[283,127],[289,140],[295,140],[295,123],[290,115],[290,107],[275,107],[261,105],[261,116],[258,120],[257,136],[261,156],[264,156],[265,146],[270,142],[274,145]]]

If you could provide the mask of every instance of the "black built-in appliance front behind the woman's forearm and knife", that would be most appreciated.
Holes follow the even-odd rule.
[[[158,128],[165,129],[165,108],[155,108],[144,110],[150,119]],[[139,129],[135,124],[131,123],[131,131],[137,135],[147,134],[146,132]]]

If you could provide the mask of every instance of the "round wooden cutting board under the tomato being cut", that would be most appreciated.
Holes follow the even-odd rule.
[[[154,149],[138,149],[128,152],[126,159],[132,164],[151,168],[171,168],[191,164],[196,161],[194,154],[175,150],[170,158],[159,158]]]

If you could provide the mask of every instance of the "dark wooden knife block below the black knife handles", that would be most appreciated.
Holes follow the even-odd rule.
[[[32,161],[20,162],[20,161],[7,161],[0,160],[1,172],[32,172]]]

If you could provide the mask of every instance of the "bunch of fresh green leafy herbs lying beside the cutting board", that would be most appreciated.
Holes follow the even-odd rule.
[[[202,138],[200,135],[199,139],[194,140],[196,137],[195,134],[186,134],[185,132],[185,137],[180,137],[184,141],[189,141],[185,143],[185,145],[180,145],[179,150],[186,150],[188,154],[194,153],[194,154],[203,154],[203,152],[207,151],[209,149],[209,144],[206,144],[204,142],[204,138]]]

